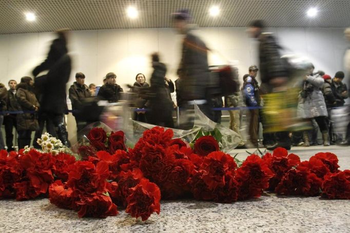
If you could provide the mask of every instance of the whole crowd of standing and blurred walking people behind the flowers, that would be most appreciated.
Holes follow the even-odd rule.
[[[323,71],[314,72],[312,63],[306,64],[305,73],[295,84],[298,91],[297,116],[300,121],[313,125],[307,130],[271,130],[263,109],[270,101],[265,98],[271,93],[286,93],[290,85],[288,67],[281,58],[280,49],[275,36],[264,33],[262,21],[254,21],[248,26],[248,33],[259,41],[259,66],[251,65],[247,74],[243,75],[243,86],[232,94],[215,95],[209,85],[210,71],[207,54],[210,49],[195,34],[191,33],[191,16],[188,10],[180,10],[173,14],[174,27],[184,35],[182,56],[178,76],[174,83],[167,78],[167,68],[160,61],[158,53],[151,54],[152,74],[150,84],[146,82],[143,73],[135,76],[135,83],[128,85],[128,92],[135,96],[132,107],[140,109],[134,112],[133,120],[153,125],[174,128],[173,110],[178,106],[180,118],[185,120],[178,127],[188,129],[193,124],[193,108],[199,109],[212,121],[221,122],[221,111],[215,107],[231,108],[229,128],[241,138],[238,148],[266,147],[273,150],[276,147],[290,149],[292,145],[310,146],[317,144],[317,130],[322,134],[323,145],[349,145],[349,133],[346,137],[334,130],[330,117],[332,109],[342,107],[348,98],[348,90],[344,72],[338,71],[330,76]],[[18,132],[18,148],[30,145],[32,131],[35,139],[40,138],[44,126],[53,136],[59,138],[66,146],[70,146],[68,132],[64,122],[64,114],[68,113],[66,102],[66,85],[71,72],[71,60],[67,54],[67,30],[57,31],[57,38],[52,42],[47,59],[33,71],[33,77],[25,76],[17,85],[15,80],[8,82],[7,90],[0,84],[0,125],[5,125],[6,146],[8,151],[13,147],[13,128]],[[345,31],[350,41],[350,31]],[[46,74],[42,74],[46,71]],[[260,71],[259,84],[257,75]],[[69,88],[69,99],[72,113],[75,117],[78,138],[79,132],[89,123],[99,120],[98,112],[93,109],[96,102],[106,101],[116,103],[123,100],[124,90],[116,84],[116,74],[106,74],[101,87],[95,84],[85,84],[85,74],[75,74],[75,82]],[[176,91],[176,103],[171,99],[171,93]],[[242,110],[236,107],[246,107],[249,116],[248,140],[243,141],[240,133]],[[10,113],[3,113],[9,111]],[[18,111],[18,112],[17,112]],[[23,112],[21,112],[23,111]],[[86,114],[86,112],[88,112]],[[185,112],[182,114],[181,112]],[[262,125],[263,141],[259,140],[259,127]],[[349,128],[349,127],[348,127]],[[349,131],[349,129],[348,129]],[[316,135],[316,136],[315,136]],[[36,140],[33,146],[37,147]],[[0,134],[0,149],[5,143]]]

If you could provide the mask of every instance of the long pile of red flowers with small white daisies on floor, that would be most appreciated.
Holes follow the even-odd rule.
[[[143,221],[160,213],[161,198],[231,203],[272,191],[350,199],[350,170],[340,171],[330,152],[301,162],[277,148],[262,157],[251,154],[238,166],[211,135],[199,137],[191,148],[172,139],[171,129],[154,127],[127,149],[124,132],[93,128],[87,135],[90,143],[79,148],[80,161],[53,152],[49,143],[55,145],[54,140],[43,136],[43,151],[0,151],[0,198],[48,197],[79,217],[115,216],[119,207]]]

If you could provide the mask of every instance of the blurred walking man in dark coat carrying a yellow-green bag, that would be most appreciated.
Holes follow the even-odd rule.
[[[252,38],[256,38],[259,44],[259,61],[262,93],[272,93],[285,90],[288,81],[288,72],[285,63],[281,59],[280,46],[275,37],[270,33],[263,33],[264,23],[260,20],[249,24],[248,32]],[[264,117],[264,116],[263,116]],[[287,131],[275,133],[275,143],[268,145],[268,150],[277,147],[290,149],[290,138]]]

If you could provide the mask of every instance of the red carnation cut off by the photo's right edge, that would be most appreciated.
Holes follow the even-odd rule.
[[[322,196],[328,199],[350,199],[350,170],[328,173],[322,183]]]

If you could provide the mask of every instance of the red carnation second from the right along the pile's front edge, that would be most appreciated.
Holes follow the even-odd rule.
[[[280,195],[317,196],[322,180],[306,167],[290,169],[277,185],[275,192]]]

